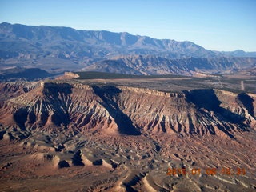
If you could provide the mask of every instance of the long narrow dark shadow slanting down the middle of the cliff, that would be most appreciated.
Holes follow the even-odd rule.
[[[138,128],[133,125],[130,118],[120,110],[118,104],[114,101],[114,96],[122,92],[115,86],[92,86],[94,93],[102,99],[102,106],[110,113],[111,117],[118,125],[120,134],[140,135]]]

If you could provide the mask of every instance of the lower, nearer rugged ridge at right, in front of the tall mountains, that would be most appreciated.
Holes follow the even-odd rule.
[[[83,68],[86,71],[114,72],[121,74],[181,74],[198,72],[223,74],[252,69],[256,58],[162,58],[154,55],[130,55],[95,62]]]

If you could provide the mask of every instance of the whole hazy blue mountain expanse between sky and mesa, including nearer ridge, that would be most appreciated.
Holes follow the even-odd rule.
[[[193,42],[69,27],[0,24],[0,70],[50,73],[98,70],[124,74],[225,73],[256,66],[256,52],[218,52]]]

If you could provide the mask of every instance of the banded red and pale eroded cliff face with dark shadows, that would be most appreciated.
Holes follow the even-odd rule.
[[[254,94],[223,90],[165,93],[70,82],[42,82],[26,91],[23,84],[18,87],[23,92],[14,91],[15,97],[2,102],[0,109],[2,126],[18,130],[235,138],[256,125]]]

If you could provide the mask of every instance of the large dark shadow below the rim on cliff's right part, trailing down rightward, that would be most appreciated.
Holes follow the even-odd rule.
[[[247,131],[246,125],[244,124],[246,118],[221,107],[220,104],[222,102],[218,100],[214,90],[190,90],[184,91],[184,93],[186,94],[186,100],[194,103],[198,109],[204,108],[208,111],[214,111],[218,116],[218,120],[221,122],[230,122],[232,124],[241,125],[239,126],[240,130]],[[250,106],[250,104],[247,106]],[[223,126],[218,125],[218,129],[222,130],[230,138],[234,138],[234,135],[230,134],[230,126],[225,126],[225,124],[223,124]]]

